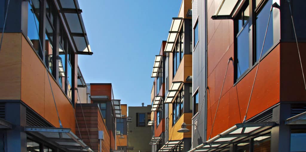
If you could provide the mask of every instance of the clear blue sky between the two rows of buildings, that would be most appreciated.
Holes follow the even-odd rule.
[[[79,55],[86,83],[112,83],[121,104],[150,104],[155,55],[181,0],[79,0],[92,56]]]

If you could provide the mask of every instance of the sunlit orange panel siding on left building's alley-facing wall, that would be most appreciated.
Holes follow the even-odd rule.
[[[21,53],[21,100],[52,125],[59,127],[46,68],[23,36]],[[48,74],[62,125],[75,132],[73,107],[51,74]]]

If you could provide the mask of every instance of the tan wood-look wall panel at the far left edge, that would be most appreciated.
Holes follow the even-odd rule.
[[[0,99],[21,99],[21,33],[4,33],[0,50]]]

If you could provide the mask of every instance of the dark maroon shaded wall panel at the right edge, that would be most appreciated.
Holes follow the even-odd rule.
[[[281,101],[305,101],[306,91],[297,52],[297,44],[281,42]],[[306,43],[299,43],[304,74],[306,74]]]

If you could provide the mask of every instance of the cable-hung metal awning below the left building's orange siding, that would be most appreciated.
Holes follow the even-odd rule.
[[[24,131],[68,152],[93,152],[70,128],[24,127]]]

